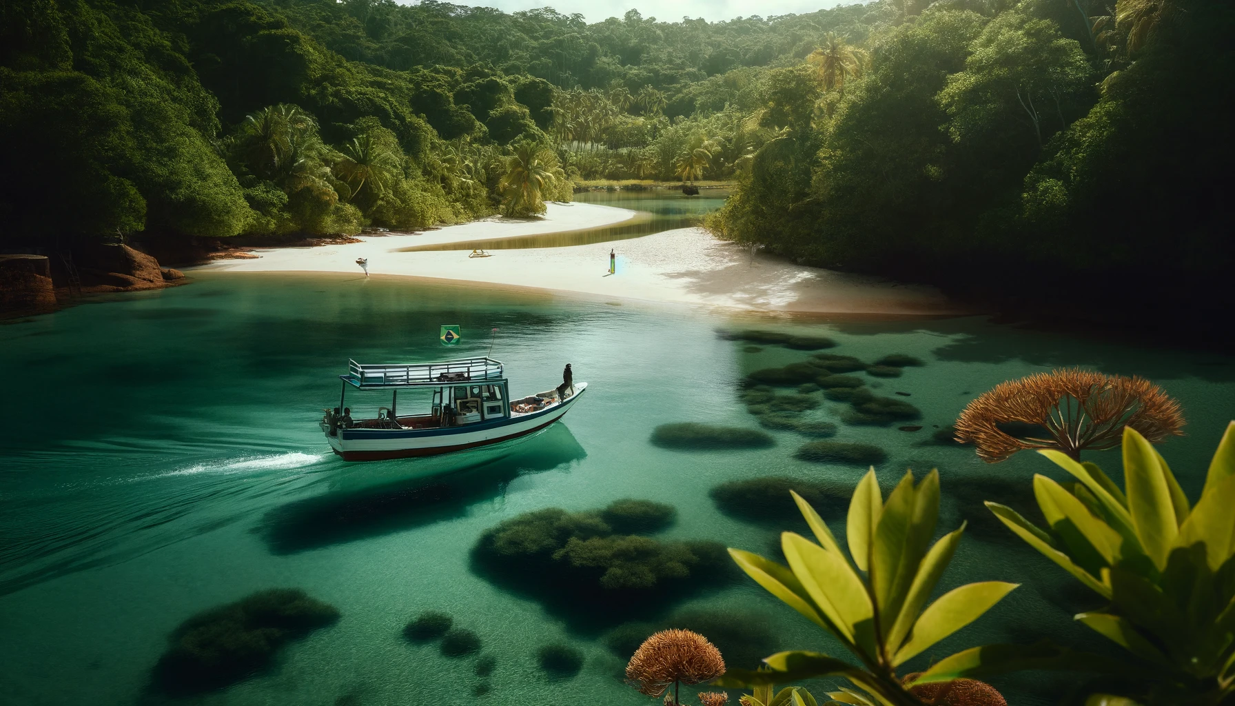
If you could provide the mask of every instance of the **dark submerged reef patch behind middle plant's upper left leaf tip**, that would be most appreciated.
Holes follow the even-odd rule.
[[[825,514],[844,511],[850,495],[848,488],[839,485],[785,476],[729,481],[713,486],[708,495],[730,517],[783,527],[799,518],[789,491],[797,491]]]

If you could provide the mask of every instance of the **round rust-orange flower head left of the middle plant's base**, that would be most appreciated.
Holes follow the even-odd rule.
[[[708,638],[690,631],[661,631],[643,640],[626,665],[626,681],[648,696],[671,684],[699,684],[725,673],[725,659]]]

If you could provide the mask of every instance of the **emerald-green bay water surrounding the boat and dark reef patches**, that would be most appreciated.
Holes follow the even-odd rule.
[[[437,345],[443,323],[462,324],[464,346]],[[971,450],[924,444],[934,425],[950,423],[997,382],[1051,366],[1145,375],[1184,406],[1188,435],[1162,450],[1195,498],[1221,427],[1235,415],[1229,357],[972,318],[769,321],[378,277],[199,273],[186,287],[0,326],[11,393],[0,449],[5,699],[162,702],[147,684],[177,624],[256,590],[293,586],[337,606],[342,619],[291,643],[268,674],[182,701],[652,704],[619,681],[625,660],[599,639],[604,616],[580,621],[562,606],[506,591],[473,570],[469,549],[484,529],[522,512],[636,497],[677,507],[678,521],[663,537],[769,554],[778,528],[726,517],[709,488],[767,475],[852,483],[862,470],[794,460],[805,439],[782,432],[773,433],[776,446],[748,451],[680,453],[648,443],[668,422],[756,427],[735,396],[737,381],[808,354],[778,346],[747,352],[748,344],[715,335],[752,325],[829,335],[840,342],[831,352],[863,360],[905,352],[927,361],[902,378],[877,381],[882,394],[911,394],[923,432],[842,425],[836,439],[884,448],[885,482],[906,466],[919,475],[940,469],[940,532],[962,517],[972,523],[942,589],[988,579],[1024,586],[918,666],[965,647],[1044,634],[1102,645],[1071,622],[1097,602],[983,522],[979,508],[1000,493],[1029,498],[1031,475],[1053,475],[1053,466],[1028,454],[989,466]],[[506,362],[516,393],[555,386],[564,362],[592,385],[564,424],[495,455],[361,465],[330,455],[316,419],[335,403],[335,376],[348,357],[483,354],[493,326],[500,329],[493,355]],[[814,414],[837,420],[841,409],[825,402]],[[1118,470],[1115,454],[1093,457]],[[426,467],[457,472],[411,477]],[[842,521],[832,527],[844,532]],[[403,640],[403,624],[422,610],[451,612],[480,634],[499,660],[489,695],[471,696],[480,681],[474,659],[451,660],[435,645]],[[750,581],[705,586],[671,610],[722,611],[764,626],[769,648],[840,654]],[[536,668],[535,650],[552,642],[583,650],[576,678],[551,680]],[[1053,702],[1067,680],[999,685],[1011,702],[1032,705]]]

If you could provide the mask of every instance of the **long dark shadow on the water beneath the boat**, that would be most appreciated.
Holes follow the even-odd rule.
[[[506,449],[345,469],[336,490],[268,511],[253,528],[272,554],[284,555],[368,539],[463,517],[467,508],[505,492],[519,476],[583,460],[587,451],[564,424]],[[416,477],[408,478],[408,469]],[[432,472],[426,477],[426,472]],[[362,477],[351,477],[351,476]],[[403,475],[372,485],[364,476]],[[362,487],[357,487],[362,486]]]

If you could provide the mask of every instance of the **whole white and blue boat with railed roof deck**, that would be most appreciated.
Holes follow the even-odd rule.
[[[350,360],[347,375],[338,377],[338,407],[325,410],[321,430],[345,461],[436,456],[521,439],[561,419],[588,388],[576,382],[514,398],[501,362],[490,357],[399,365]],[[373,418],[354,418],[350,391],[384,393],[379,402],[390,406],[378,407]]]

